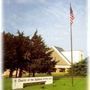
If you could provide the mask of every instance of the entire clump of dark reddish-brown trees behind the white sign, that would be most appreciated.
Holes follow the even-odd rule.
[[[4,70],[10,70],[10,77],[15,70],[16,77],[22,77],[23,71],[33,73],[33,76],[35,73],[51,74],[56,62],[51,57],[52,51],[45,45],[42,37],[37,35],[37,31],[31,39],[19,31],[16,36],[4,32],[3,37]]]

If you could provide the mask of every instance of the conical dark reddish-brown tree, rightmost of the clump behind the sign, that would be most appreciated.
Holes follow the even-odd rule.
[[[45,45],[42,37],[37,35],[37,31],[31,38],[31,72],[33,76],[35,73],[51,73],[56,62],[52,60],[50,49]]]

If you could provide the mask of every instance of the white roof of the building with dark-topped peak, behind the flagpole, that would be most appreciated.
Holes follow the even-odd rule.
[[[71,51],[64,51],[63,48],[59,48],[56,46],[52,47],[60,56],[62,56],[62,58],[64,58],[65,61],[71,63]],[[83,52],[81,51],[73,51],[73,63],[76,63],[78,61],[80,61],[80,59],[82,58],[81,56],[83,55]]]

